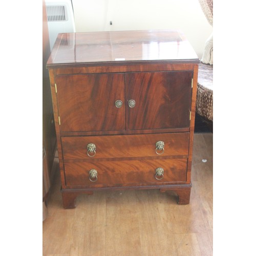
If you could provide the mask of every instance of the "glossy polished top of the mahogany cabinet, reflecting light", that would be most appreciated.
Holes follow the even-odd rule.
[[[198,63],[199,59],[176,30],[61,33],[47,68],[145,62]]]

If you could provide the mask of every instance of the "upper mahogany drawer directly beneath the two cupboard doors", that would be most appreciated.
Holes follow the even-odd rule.
[[[158,141],[164,142],[163,150],[156,148],[156,142]],[[189,133],[61,138],[64,161],[75,159],[186,156],[188,154],[188,141]],[[88,152],[87,146],[90,143],[93,143],[96,149]]]

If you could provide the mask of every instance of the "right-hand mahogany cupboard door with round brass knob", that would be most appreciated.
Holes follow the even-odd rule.
[[[126,129],[189,127],[192,78],[192,71],[125,74]]]

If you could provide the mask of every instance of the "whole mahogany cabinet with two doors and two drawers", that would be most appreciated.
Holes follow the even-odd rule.
[[[58,35],[47,68],[65,208],[106,189],[189,203],[198,63],[176,30]]]

